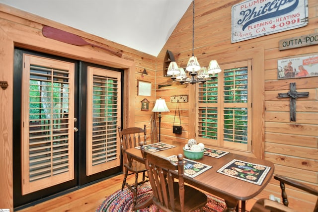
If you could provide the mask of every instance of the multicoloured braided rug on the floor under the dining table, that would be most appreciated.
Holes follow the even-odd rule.
[[[137,204],[143,203],[152,195],[150,183],[145,183],[137,187],[138,198]],[[206,194],[208,203],[203,207],[205,212],[222,212],[225,208],[225,202],[219,198]],[[96,209],[96,212],[131,212],[133,207],[133,193],[125,187],[123,191],[118,190],[114,194],[104,200]],[[148,208],[137,210],[136,212],[155,212],[155,205],[150,205]],[[198,212],[200,210],[197,210]],[[160,210],[159,210],[160,212]]]

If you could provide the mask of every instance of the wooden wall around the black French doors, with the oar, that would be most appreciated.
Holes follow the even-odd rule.
[[[74,46],[45,38],[42,26],[48,25],[79,35],[86,41],[105,46],[123,53],[123,57],[112,56],[108,52],[92,46]],[[129,35],[129,32],[127,32]],[[152,82],[153,96],[147,96],[150,108],[155,102],[156,57],[136,51],[109,40],[79,31],[77,29],[26,13],[0,3],[0,81],[9,86],[0,89],[0,208],[13,211],[12,173],[12,100],[13,100],[13,50],[14,46],[68,57],[90,63],[125,70],[124,126],[148,126],[152,112],[141,111],[141,101],[145,96],[137,96],[137,80]],[[142,74],[144,69],[148,74]],[[150,140],[150,136],[148,136]]]

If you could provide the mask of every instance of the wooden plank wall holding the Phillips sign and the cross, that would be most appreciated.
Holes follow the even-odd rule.
[[[279,40],[318,32],[318,0],[309,2],[309,23],[307,26],[254,38],[231,44],[231,7],[241,0],[207,1],[195,0],[194,55],[201,66],[217,59],[222,64],[220,52],[240,52],[253,48],[264,49],[265,67],[265,159],[275,164],[275,174],[282,174],[318,189],[318,77],[277,80],[277,60],[318,54],[318,45],[279,51]],[[163,59],[166,50],[173,53],[179,66],[185,67],[192,54],[192,3],[179,21],[157,58],[157,96],[169,101],[170,96],[193,93],[194,85],[158,88],[158,84],[171,84],[170,78],[163,76]],[[235,59],[234,59],[235,60]],[[297,99],[297,121],[289,121],[289,98],[278,99],[278,93],[286,93],[289,83],[296,82],[298,92],[310,92],[308,98]],[[178,140],[185,142],[192,132],[188,120],[188,103],[181,105],[182,135],[172,134],[175,103],[167,103],[170,112],[163,113],[161,119],[161,141]],[[268,198],[270,194],[280,197],[280,188],[272,179],[258,198]],[[290,206],[305,212],[312,211],[316,197],[296,189],[287,190]]]

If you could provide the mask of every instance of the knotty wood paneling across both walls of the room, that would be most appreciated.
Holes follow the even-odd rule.
[[[217,59],[219,63],[220,52],[246,51],[252,48],[264,49],[265,67],[265,158],[275,163],[275,173],[284,174],[306,184],[318,188],[318,77],[303,79],[277,80],[277,60],[282,58],[311,55],[318,52],[317,46],[303,47],[294,50],[279,51],[279,40],[295,36],[307,35],[318,32],[318,0],[309,1],[309,24],[299,29],[267,35],[235,44],[231,44],[231,6],[241,0],[206,1],[196,0],[195,22],[195,51],[202,66],[207,66],[209,60]],[[191,4],[192,5],[192,4]],[[191,95],[193,86],[181,86],[173,83],[172,86],[161,87],[158,85],[171,83],[169,78],[163,77],[163,58],[166,50],[170,50],[179,65],[184,67],[191,56],[192,48],[192,7],[186,11],[178,23],[176,29],[166,42],[159,56],[153,57],[131,48],[101,39],[65,25],[34,16],[29,13],[16,10],[0,4],[0,80],[9,82],[9,87],[3,91],[0,89],[0,208],[12,206],[12,79],[13,79],[13,47],[20,47],[42,51],[50,54],[61,55],[101,65],[113,65],[113,67],[127,68],[129,62],[123,62],[116,57],[92,48],[90,46],[77,47],[62,44],[47,38],[41,34],[42,25],[50,25],[60,28],[87,39],[97,44],[105,45],[114,50],[121,50],[124,59],[134,63],[134,82],[127,82],[131,92],[126,93],[125,98],[132,99],[128,108],[131,114],[128,116],[129,125],[142,127],[148,126],[153,113],[151,109],[157,98],[166,100],[170,112],[162,113],[161,141],[177,140],[185,142],[189,135],[189,125],[193,120],[188,119],[189,103],[180,103],[182,135],[172,133],[172,123],[175,103],[170,103],[170,96]],[[16,42],[18,40],[19,42]],[[111,63],[109,63],[111,61]],[[124,65],[122,65],[124,64]],[[142,75],[147,70],[148,75]],[[129,75],[128,75],[129,76]],[[152,82],[152,96],[137,95],[137,80]],[[277,93],[287,92],[289,83],[297,83],[297,91],[310,92],[309,98],[297,100],[297,122],[289,122],[289,100],[276,99]],[[262,94],[260,94],[262,95]],[[141,101],[147,98],[150,101],[150,111],[141,111]],[[158,118],[157,118],[158,120]],[[269,194],[279,196],[279,187],[275,180],[266,187],[257,198],[268,198]],[[298,190],[291,190],[291,205],[296,205],[300,211],[310,211],[316,201],[311,195]]]

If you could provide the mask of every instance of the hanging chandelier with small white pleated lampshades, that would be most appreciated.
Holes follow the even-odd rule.
[[[181,84],[204,83],[208,80],[216,78],[215,74],[221,72],[220,66],[216,60],[209,63],[208,69],[200,66],[197,57],[194,56],[194,0],[192,0],[192,56],[186,66],[186,71],[189,71],[190,77],[187,76],[183,68],[179,68],[176,62],[170,62],[167,74],[172,75],[173,81],[178,81]]]

